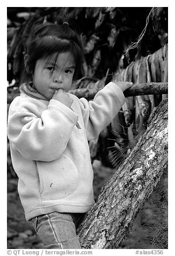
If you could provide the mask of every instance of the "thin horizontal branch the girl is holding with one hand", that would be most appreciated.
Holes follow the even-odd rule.
[[[81,88],[70,90],[69,93],[76,95],[78,98],[93,99],[100,90],[101,89]],[[168,94],[168,83],[133,84],[131,88],[124,91],[125,97],[150,94]]]

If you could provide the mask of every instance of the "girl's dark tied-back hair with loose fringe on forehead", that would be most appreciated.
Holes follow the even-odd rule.
[[[28,35],[24,33],[24,48],[25,54],[28,54],[27,71],[24,68],[21,82],[32,80],[37,60],[46,59],[54,53],[57,53],[57,60],[60,53],[71,52],[75,61],[73,80],[77,78],[80,72],[83,60],[81,40],[67,23],[62,25],[52,23],[33,25]]]

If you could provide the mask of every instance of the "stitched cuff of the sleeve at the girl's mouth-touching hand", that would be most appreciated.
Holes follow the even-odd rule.
[[[50,107],[54,107],[60,112],[64,113],[65,116],[69,117],[74,124],[78,122],[78,116],[73,112],[68,106],[64,105],[63,103],[56,101],[56,99],[51,99],[48,105],[48,109]]]

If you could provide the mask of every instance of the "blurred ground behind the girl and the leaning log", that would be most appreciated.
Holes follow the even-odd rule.
[[[97,198],[103,184],[116,170],[102,166],[100,161],[95,161],[93,168],[94,195]],[[168,248],[166,188],[165,177],[144,204],[133,223],[131,232],[123,240],[120,248]],[[32,224],[26,222],[17,192],[17,178],[7,179],[7,248],[44,248]]]

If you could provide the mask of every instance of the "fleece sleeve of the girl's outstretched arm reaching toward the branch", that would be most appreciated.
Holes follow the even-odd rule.
[[[98,91],[93,101],[80,99],[87,139],[98,137],[101,131],[115,118],[125,102],[125,97],[116,83],[110,82]]]

